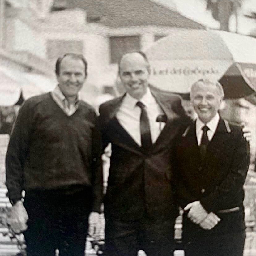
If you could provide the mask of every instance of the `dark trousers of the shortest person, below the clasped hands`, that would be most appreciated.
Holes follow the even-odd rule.
[[[183,218],[185,256],[242,256],[245,243],[244,215],[239,212],[220,215],[220,222],[212,230]]]

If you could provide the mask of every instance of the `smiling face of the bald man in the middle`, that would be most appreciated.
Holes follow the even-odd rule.
[[[147,92],[148,62],[139,53],[128,53],[122,57],[119,65],[119,76],[127,93],[140,100]]]

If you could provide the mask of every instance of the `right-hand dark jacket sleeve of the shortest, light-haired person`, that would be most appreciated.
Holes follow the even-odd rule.
[[[236,140],[237,143],[233,151],[233,161],[228,175],[215,187],[215,190],[200,200],[201,204],[208,212],[221,210],[223,202],[226,205],[236,204],[236,206],[239,206],[243,201],[243,198],[241,198],[243,192],[238,192],[243,190],[249,168],[250,147],[249,143],[243,138],[241,130],[236,135],[237,136],[234,136],[234,140]]]

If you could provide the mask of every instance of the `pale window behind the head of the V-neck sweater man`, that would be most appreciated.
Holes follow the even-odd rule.
[[[57,59],[65,53],[83,54],[82,40],[48,40],[47,57]]]

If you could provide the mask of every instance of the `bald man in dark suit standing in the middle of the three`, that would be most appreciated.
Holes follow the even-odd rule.
[[[189,118],[179,96],[148,84],[149,68],[144,53],[125,54],[119,75],[126,94],[99,109],[104,147],[112,145],[104,205],[108,256],[135,256],[138,250],[167,256],[173,250],[178,208],[170,148]]]

